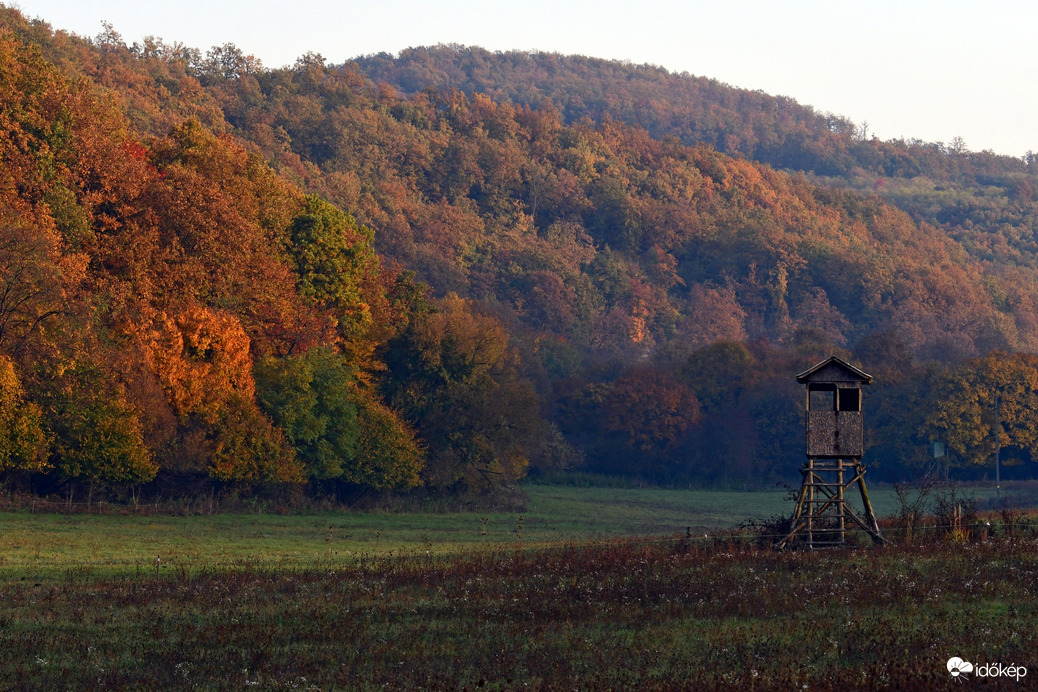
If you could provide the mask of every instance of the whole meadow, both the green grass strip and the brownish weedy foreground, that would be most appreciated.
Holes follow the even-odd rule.
[[[1038,670],[1031,524],[778,553],[722,529],[787,513],[782,493],[527,491],[521,535],[515,513],[2,514],[0,681],[954,689],[952,656]]]

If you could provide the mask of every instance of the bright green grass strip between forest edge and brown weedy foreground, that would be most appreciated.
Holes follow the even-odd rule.
[[[523,513],[117,516],[0,515],[0,580],[227,568],[306,569],[361,558],[621,536],[695,536],[788,515],[783,492],[531,485]],[[989,491],[976,491],[984,497]],[[871,494],[893,515],[889,490]],[[520,517],[522,518],[520,533]],[[486,523],[484,520],[486,519]],[[158,561],[157,561],[157,558]]]

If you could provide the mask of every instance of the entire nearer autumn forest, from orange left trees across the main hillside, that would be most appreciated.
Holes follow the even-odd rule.
[[[1035,368],[988,355],[1036,350],[1023,262],[637,124],[9,9],[0,80],[0,465],[44,490],[768,482],[830,353],[881,468],[976,466],[977,383]]]

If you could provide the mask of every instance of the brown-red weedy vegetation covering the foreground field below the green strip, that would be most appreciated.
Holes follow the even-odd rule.
[[[8,689],[940,689],[1034,664],[1038,541],[612,539],[0,585]],[[992,687],[1019,688],[1012,679]]]

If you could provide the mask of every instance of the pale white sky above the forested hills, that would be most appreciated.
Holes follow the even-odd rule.
[[[1030,0],[17,0],[55,29],[202,51],[267,67],[463,44],[649,62],[788,95],[881,139],[1038,150],[1038,2]]]

